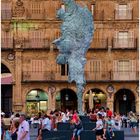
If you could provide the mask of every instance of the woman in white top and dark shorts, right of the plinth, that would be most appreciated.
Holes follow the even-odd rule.
[[[103,140],[103,121],[102,121],[102,115],[97,115],[97,122],[96,122],[96,128],[93,129],[93,131],[96,130],[96,140]]]

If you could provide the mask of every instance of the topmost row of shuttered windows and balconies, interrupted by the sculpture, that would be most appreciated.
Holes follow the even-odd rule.
[[[25,8],[26,6],[26,8]],[[1,18],[2,19],[12,19],[12,18],[25,18],[25,19],[56,19],[56,12],[61,7],[65,9],[64,4],[60,4],[60,2],[53,1],[49,3],[49,1],[39,2],[25,2],[25,6],[22,7],[12,7],[11,3],[2,2],[1,8]],[[94,4],[91,4],[88,7],[94,16],[95,21],[106,20],[110,18],[112,20],[132,20],[137,19],[138,14],[136,10],[134,12],[134,7],[128,4],[116,4],[114,5],[114,10],[108,12],[108,10],[103,9],[103,6],[98,5],[98,7]]]

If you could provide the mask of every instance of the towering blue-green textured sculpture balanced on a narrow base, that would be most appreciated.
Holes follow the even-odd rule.
[[[93,18],[87,7],[81,7],[74,0],[63,0],[64,9],[59,9],[57,17],[63,21],[61,37],[54,40],[60,54],[58,64],[68,64],[68,81],[76,82],[78,111],[82,114],[82,96],[85,86],[84,65],[86,52],[93,37]]]

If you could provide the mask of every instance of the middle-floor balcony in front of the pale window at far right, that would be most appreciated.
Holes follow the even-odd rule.
[[[127,39],[112,39],[112,48],[113,49],[136,49],[138,46],[138,39],[136,38],[127,38]]]

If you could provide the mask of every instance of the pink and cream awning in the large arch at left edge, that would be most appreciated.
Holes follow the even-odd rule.
[[[12,74],[11,73],[1,74],[1,84],[2,85],[11,85],[12,84]]]

